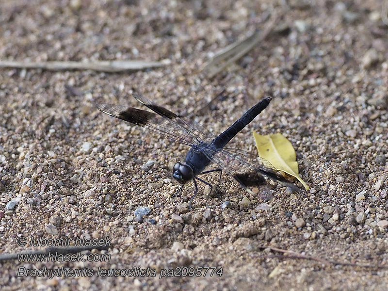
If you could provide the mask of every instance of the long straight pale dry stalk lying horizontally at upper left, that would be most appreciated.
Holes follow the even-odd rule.
[[[144,70],[147,68],[161,67],[168,65],[169,60],[162,62],[145,61],[95,61],[95,62],[14,62],[0,61],[0,67],[3,68],[26,68],[26,69],[45,69],[50,71],[62,70],[94,70],[99,72],[122,72]]]

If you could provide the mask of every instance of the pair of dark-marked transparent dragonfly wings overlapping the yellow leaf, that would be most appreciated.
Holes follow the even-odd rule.
[[[300,191],[298,187],[278,174],[278,170],[275,169],[270,162],[259,157],[259,155],[251,154],[242,149],[220,149],[214,154],[212,161],[222,168],[222,170],[228,175],[235,178],[244,188],[246,187],[238,176],[239,174],[253,170],[256,173],[271,178],[277,182],[281,182],[291,187],[293,190]]]

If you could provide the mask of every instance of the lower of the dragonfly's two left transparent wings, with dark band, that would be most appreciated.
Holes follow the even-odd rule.
[[[198,135],[192,134],[190,129],[184,128],[174,117],[170,118],[146,110],[113,104],[97,104],[97,108],[103,113],[150,129],[187,146],[193,146],[201,141]]]

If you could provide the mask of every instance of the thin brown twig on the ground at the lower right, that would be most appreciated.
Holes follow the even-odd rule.
[[[268,255],[268,256],[261,256],[262,259],[267,258],[278,258],[278,259],[308,259],[308,260],[315,260],[320,263],[326,264],[326,265],[341,265],[341,266],[352,266],[352,267],[360,267],[360,268],[379,268],[379,269],[385,269],[388,268],[387,265],[364,265],[364,264],[357,264],[357,263],[346,263],[346,262],[340,262],[336,260],[328,260],[328,259],[321,259],[313,256],[306,256],[299,254],[294,251],[284,250],[277,247],[272,246],[260,246],[261,249],[269,248],[270,250],[274,252],[283,253],[286,255]]]

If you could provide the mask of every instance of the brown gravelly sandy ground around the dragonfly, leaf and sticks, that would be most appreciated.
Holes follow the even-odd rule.
[[[2,0],[1,60],[171,65],[115,74],[1,69],[0,252],[44,248],[31,239],[108,237],[112,245],[92,251],[110,255],[106,261],[2,261],[1,289],[387,290],[388,27],[381,3]],[[262,29],[274,12],[285,14],[276,24],[282,33],[233,69],[211,80],[201,74],[213,53]],[[224,174],[219,197],[201,186],[189,211],[192,185],[182,200],[171,198],[178,189],[171,167],[188,148],[95,107],[139,107],[132,87],[187,114],[225,89],[197,114],[215,134],[272,94],[231,146],[254,152],[252,130],[283,133],[311,190],[291,193],[268,181],[251,195]],[[216,183],[215,175],[206,179]],[[143,221],[139,207],[150,210]],[[282,257],[275,248],[297,254]],[[204,276],[200,267],[217,269]],[[133,268],[156,275],[130,275]],[[163,273],[179,268],[198,276]],[[64,273],[31,273],[45,269]]]

